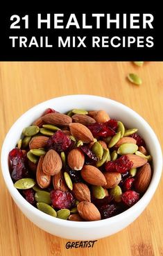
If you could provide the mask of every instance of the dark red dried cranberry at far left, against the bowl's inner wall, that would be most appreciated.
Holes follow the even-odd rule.
[[[19,148],[13,148],[9,153],[11,164],[11,177],[13,180],[20,180],[28,177],[28,169],[26,168],[26,155]]]

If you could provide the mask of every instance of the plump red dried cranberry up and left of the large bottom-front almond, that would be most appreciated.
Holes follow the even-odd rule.
[[[51,202],[54,208],[69,209],[74,204],[74,196],[69,191],[52,190]]]

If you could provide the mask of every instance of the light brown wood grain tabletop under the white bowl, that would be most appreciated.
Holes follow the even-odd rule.
[[[139,74],[142,85],[129,83],[128,72]],[[0,144],[26,110],[66,94],[100,95],[128,105],[148,121],[163,144],[163,62],[147,62],[144,67],[131,62],[1,62]],[[162,195],[163,180],[146,210],[128,228],[99,239],[94,248],[66,249],[68,240],[54,237],[26,219],[0,173],[0,255],[162,256]]]

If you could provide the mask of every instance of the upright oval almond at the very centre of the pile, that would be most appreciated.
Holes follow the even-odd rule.
[[[69,155],[67,156],[67,163],[71,169],[76,171],[81,170],[84,162],[85,155],[80,148],[74,148],[69,152]]]

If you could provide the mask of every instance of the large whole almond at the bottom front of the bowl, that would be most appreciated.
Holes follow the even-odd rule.
[[[101,219],[101,214],[93,203],[80,202],[77,205],[78,213],[85,221],[98,221]]]

